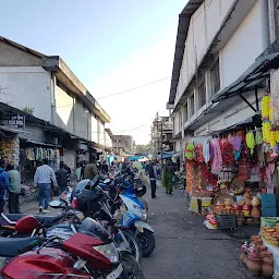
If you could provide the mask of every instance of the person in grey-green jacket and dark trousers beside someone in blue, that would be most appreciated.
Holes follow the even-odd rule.
[[[21,214],[20,194],[21,194],[21,175],[13,165],[7,166],[9,178],[9,213]]]

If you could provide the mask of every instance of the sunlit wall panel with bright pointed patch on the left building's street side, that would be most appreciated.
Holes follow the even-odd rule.
[[[57,125],[74,132],[74,99],[56,85]]]

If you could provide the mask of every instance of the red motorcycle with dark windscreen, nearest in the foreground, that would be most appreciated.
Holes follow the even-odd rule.
[[[145,278],[132,254],[119,251],[108,231],[92,218],[85,218],[77,232],[64,242],[58,236],[37,239],[21,252],[25,253],[3,267],[3,278]]]

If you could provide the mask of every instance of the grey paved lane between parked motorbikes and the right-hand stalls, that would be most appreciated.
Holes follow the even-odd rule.
[[[254,278],[238,260],[241,240],[203,226],[204,218],[187,210],[183,191],[157,192],[157,199],[146,195],[156,232],[156,250],[143,260],[146,279]]]

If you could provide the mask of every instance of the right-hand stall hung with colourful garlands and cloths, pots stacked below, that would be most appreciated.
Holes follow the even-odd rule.
[[[270,215],[258,207],[265,194],[274,194],[272,167],[264,149],[262,120],[257,116],[251,120],[190,137],[185,144],[190,208],[206,216],[209,229],[259,226],[260,216]]]

